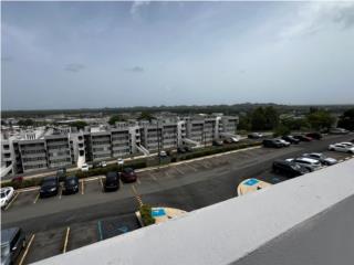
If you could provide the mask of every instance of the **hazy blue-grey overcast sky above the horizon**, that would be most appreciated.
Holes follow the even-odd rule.
[[[1,2],[2,109],[354,103],[354,2]]]

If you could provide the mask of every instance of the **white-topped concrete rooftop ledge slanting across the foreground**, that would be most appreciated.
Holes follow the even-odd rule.
[[[37,264],[353,264],[354,159]]]

